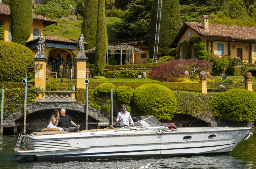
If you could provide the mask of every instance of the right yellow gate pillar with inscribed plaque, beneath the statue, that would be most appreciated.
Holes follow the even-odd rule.
[[[84,52],[79,51],[76,59],[76,89],[86,89],[84,80],[86,79],[86,61],[87,57]]]

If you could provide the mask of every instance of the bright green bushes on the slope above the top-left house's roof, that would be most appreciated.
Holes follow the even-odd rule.
[[[52,19],[67,17],[70,3],[63,0],[46,0],[44,5],[36,5],[35,13]]]

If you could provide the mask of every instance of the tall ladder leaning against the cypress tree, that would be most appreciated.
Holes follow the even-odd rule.
[[[156,19],[156,37],[155,37],[155,47],[154,47],[153,63],[157,63],[158,42],[159,42],[159,32],[160,32],[160,21],[161,21],[161,10],[162,10],[162,0],[158,0],[157,19]]]

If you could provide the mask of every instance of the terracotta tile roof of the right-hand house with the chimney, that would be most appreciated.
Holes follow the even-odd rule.
[[[202,23],[185,22],[187,25],[203,36],[228,37],[238,40],[256,41],[256,27],[209,24],[209,30],[202,28]]]

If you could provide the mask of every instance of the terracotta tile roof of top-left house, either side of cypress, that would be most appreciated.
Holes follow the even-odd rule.
[[[11,7],[8,6],[8,5],[0,3],[0,15],[1,14],[11,16]],[[46,17],[43,17],[41,15],[37,15],[37,14],[34,14],[34,13],[33,13],[33,19],[40,20],[40,21],[46,21],[46,22],[48,22],[46,25],[50,25],[50,24],[58,22],[54,19],[46,18]]]

